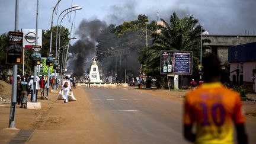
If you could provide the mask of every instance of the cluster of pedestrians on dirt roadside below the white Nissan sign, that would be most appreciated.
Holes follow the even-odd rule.
[[[44,97],[44,89],[47,84],[47,76],[36,76],[36,86],[34,87],[34,76],[28,76],[25,78],[17,75],[17,104],[21,104],[21,108],[26,108],[28,101],[28,94],[31,94],[30,101],[37,101],[37,94],[40,87],[41,97]],[[35,88],[35,97],[33,100],[33,89]]]

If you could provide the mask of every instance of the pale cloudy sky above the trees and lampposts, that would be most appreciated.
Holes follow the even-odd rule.
[[[0,34],[14,30],[15,0],[0,0]],[[49,29],[52,7],[57,0],[39,0],[39,28]],[[148,15],[156,20],[156,12],[160,18],[169,21],[172,12],[179,17],[194,15],[210,34],[256,34],[256,1],[255,0],[62,0],[54,25],[60,12],[78,4],[82,9],[76,12],[75,28],[83,19],[98,18],[107,24],[121,24],[134,20],[137,15]],[[36,28],[36,0],[19,0],[18,28]],[[73,13],[74,14],[74,13]],[[72,14],[72,17],[73,17]],[[62,22],[70,28],[68,17]]]

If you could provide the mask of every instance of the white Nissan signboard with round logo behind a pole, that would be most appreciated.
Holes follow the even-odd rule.
[[[23,32],[23,47],[36,45],[36,29],[24,29]],[[42,30],[38,30],[37,46],[42,46]]]

